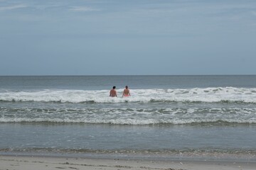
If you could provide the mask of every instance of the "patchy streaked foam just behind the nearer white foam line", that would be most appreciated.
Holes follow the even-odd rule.
[[[34,114],[34,115],[144,115],[144,116],[165,116],[165,115],[185,115],[190,116],[212,114],[212,115],[254,115],[256,108],[14,108],[0,107],[2,114]]]

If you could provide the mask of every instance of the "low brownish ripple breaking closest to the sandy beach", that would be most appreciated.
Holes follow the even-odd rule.
[[[256,149],[238,149],[238,148],[197,148],[197,149],[82,149],[82,148],[61,148],[61,147],[22,147],[22,148],[1,148],[0,152],[22,152],[23,154],[33,152],[33,154],[41,153],[42,154],[50,154],[50,153],[60,153],[60,154],[107,154],[107,157],[129,157],[133,155],[133,157],[143,157],[150,158],[157,157],[172,157],[178,156],[181,157],[215,157],[217,156],[219,159],[223,159],[223,157],[232,158],[237,157],[237,159],[247,158],[247,159],[255,159],[254,155],[256,154]],[[103,155],[101,155],[103,156]],[[228,157],[227,157],[228,156]],[[239,157],[238,157],[239,156]]]

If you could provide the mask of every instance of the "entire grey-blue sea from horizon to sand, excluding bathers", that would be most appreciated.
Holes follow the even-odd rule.
[[[256,76],[0,77],[0,138],[0,154],[256,161]]]

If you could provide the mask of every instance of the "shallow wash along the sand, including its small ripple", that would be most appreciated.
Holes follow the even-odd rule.
[[[85,159],[129,159],[147,161],[196,161],[196,162],[255,162],[254,153],[223,153],[223,152],[8,152],[1,151],[0,156],[7,157],[63,157]]]

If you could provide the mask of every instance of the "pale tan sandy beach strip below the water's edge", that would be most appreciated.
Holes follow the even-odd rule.
[[[133,159],[90,159],[68,157],[0,156],[0,170],[99,169],[99,170],[215,170],[256,169],[255,162],[151,161]]]

